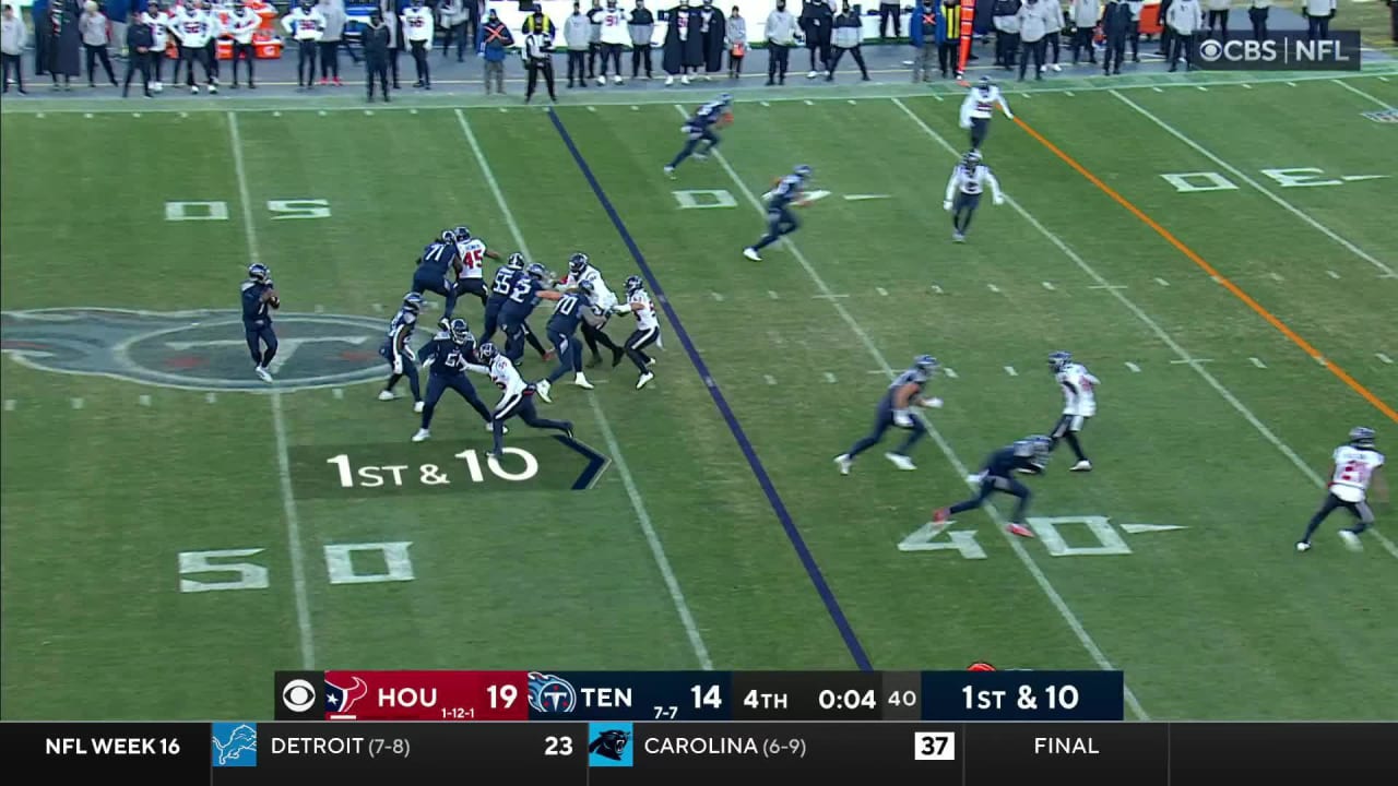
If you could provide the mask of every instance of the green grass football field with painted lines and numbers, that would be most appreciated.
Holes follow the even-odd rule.
[[[672,180],[707,94],[6,112],[0,715],[268,717],[302,667],[988,660],[1121,669],[1128,719],[1391,719],[1392,508],[1363,552],[1342,512],[1293,544],[1352,427],[1398,452],[1398,76],[1128,84],[1012,90],[984,147],[1009,199],[965,245],[949,91],[740,94]],[[797,164],[802,228],[744,260]],[[412,262],[459,224],[661,305],[650,386],[604,366],[540,406],[610,459],[589,490],[545,432],[512,424],[541,464],[516,483],[453,394],[425,443],[376,400]],[[284,303],[271,386],[235,310],[253,262]],[[986,455],[1054,424],[1055,350],[1102,379],[1095,471],[1064,449],[1029,480],[1035,540],[1002,502],[928,538]],[[946,406],[917,470],[889,435],[842,477],[923,352]],[[401,485],[338,480],[363,466]]]

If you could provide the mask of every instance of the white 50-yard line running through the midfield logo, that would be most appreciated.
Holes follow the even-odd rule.
[[[238,115],[228,113],[228,137],[233,151],[233,175],[238,180],[238,200],[243,206],[243,235],[247,241],[247,259],[256,264],[261,260],[257,250],[257,228],[253,224],[253,203],[247,189],[247,168],[243,165],[243,140],[238,133]],[[316,636],[310,627],[310,597],[306,592],[306,559],[301,550],[301,516],[296,513],[296,496],[291,488],[291,448],[287,439],[287,415],[282,413],[281,392],[271,392],[271,431],[277,439],[277,474],[281,481],[281,508],[287,519],[287,545],[291,550],[291,586],[296,599],[296,631],[301,634],[301,667],[316,664]]]

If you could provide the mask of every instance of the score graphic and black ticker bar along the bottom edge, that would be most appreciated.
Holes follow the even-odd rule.
[[[60,780],[214,786],[1398,782],[1398,723],[1125,720],[1121,673],[976,666],[280,671],[271,722],[6,722],[0,752]]]

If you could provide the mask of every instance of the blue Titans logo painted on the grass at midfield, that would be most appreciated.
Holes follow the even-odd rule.
[[[303,390],[383,376],[377,354],[386,320],[281,313],[277,382],[252,375],[236,310],[145,312],[98,308],[0,313],[0,351],[56,373],[110,376],[185,390]]]

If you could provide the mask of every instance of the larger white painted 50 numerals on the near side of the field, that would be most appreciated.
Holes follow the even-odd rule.
[[[331,543],[326,545],[326,572],[331,585],[376,585],[383,582],[411,582],[411,541],[396,543]],[[179,590],[218,592],[238,589],[267,589],[271,575],[266,565],[250,562],[266,548],[217,548],[212,551],[180,551]]]

